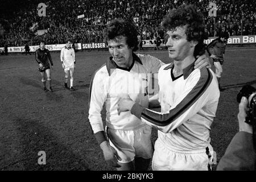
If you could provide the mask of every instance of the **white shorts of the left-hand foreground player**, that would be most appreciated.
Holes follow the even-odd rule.
[[[135,130],[115,130],[106,128],[110,146],[114,147],[121,160],[129,163],[135,157],[152,158],[151,126],[145,125]]]

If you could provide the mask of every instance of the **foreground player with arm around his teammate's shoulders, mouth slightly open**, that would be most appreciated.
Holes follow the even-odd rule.
[[[152,156],[151,127],[130,111],[119,115],[117,103],[122,94],[129,94],[134,101],[147,107],[147,92],[129,90],[144,90],[140,81],[147,80],[148,73],[158,73],[163,63],[156,57],[133,52],[138,49],[137,29],[128,20],[111,22],[104,31],[104,37],[112,57],[92,78],[89,94],[90,125],[106,162],[118,170],[147,170]],[[200,59],[203,61],[199,61],[199,65],[204,67],[208,62],[205,56],[202,57]],[[101,118],[104,104],[108,139]]]

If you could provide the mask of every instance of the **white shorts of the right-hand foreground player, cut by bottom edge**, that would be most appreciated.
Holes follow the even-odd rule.
[[[213,159],[213,148],[208,146],[212,158],[209,159],[206,148],[202,150],[177,151],[167,148],[157,139],[152,158],[153,171],[208,171],[209,161]]]

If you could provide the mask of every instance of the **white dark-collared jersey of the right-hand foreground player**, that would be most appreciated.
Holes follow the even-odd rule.
[[[174,77],[174,64],[164,65],[158,73],[161,112],[135,104],[131,113],[158,129],[161,142],[174,150],[198,150],[210,142],[209,131],[218,105],[220,91],[211,69],[183,69]]]

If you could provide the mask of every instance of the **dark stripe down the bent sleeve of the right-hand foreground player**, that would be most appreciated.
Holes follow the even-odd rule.
[[[189,107],[201,97],[205,90],[209,87],[212,81],[212,74],[207,68],[200,70],[201,76],[195,87],[188,93],[188,95],[181,101],[174,109],[170,110],[166,114],[158,114],[149,109],[145,109],[141,117],[148,122],[153,123],[157,126],[167,126],[181,114],[183,114]]]

